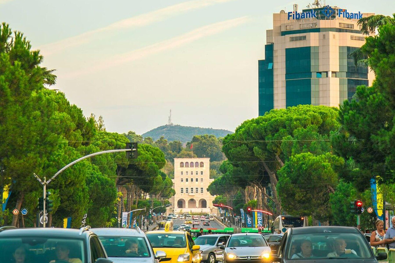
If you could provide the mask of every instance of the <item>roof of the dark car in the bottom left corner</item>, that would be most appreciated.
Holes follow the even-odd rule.
[[[81,238],[92,235],[91,231],[66,228],[24,228],[7,229],[0,232],[0,237],[58,237],[58,238]]]

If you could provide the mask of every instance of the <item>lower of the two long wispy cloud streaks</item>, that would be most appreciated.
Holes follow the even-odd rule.
[[[157,54],[166,50],[184,46],[193,41],[202,39],[203,37],[221,33],[227,29],[245,24],[250,20],[251,18],[249,16],[242,16],[231,20],[226,20],[226,21],[210,24],[207,26],[203,26],[195,30],[192,30],[188,33],[185,33],[183,35],[173,37],[172,39],[161,41],[147,47],[133,50],[131,52],[116,55],[110,59],[107,59],[87,69],[82,69],[82,70],[67,73],[65,76],[63,76],[63,78],[75,78],[81,76],[82,74],[93,73],[98,70],[103,70],[106,68],[118,66],[123,63],[143,59],[149,55]]]

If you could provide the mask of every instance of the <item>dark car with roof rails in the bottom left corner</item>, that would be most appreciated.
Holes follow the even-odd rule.
[[[112,263],[98,236],[89,230],[62,228],[0,228],[1,262],[13,262],[13,254],[24,253],[28,262]],[[62,251],[63,253],[59,253]]]

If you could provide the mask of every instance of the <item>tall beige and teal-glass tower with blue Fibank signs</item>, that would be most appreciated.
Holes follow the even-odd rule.
[[[338,7],[273,14],[265,59],[258,61],[259,115],[299,104],[338,107],[374,74],[350,57],[365,43],[358,19],[373,13]]]

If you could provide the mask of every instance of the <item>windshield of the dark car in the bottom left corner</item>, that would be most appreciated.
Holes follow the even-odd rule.
[[[87,262],[81,239],[19,237],[0,238],[1,262],[49,262],[73,259]]]

